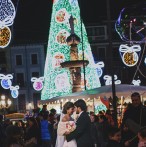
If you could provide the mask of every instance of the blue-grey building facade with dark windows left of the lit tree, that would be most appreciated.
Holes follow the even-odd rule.
[[[45,45],[14,45],[9,49],[9,69],[13,84],[19,85],[19,96],[13,99],[15,109],[24,111],[37,106],[41,91],[33,89],[31,77],[41,77],[44,72]]]

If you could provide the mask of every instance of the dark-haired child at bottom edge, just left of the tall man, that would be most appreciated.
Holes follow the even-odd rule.
[[[109,140],[106,147],[123,147],[121,143],[121,131],[117,127],[109,128]]]

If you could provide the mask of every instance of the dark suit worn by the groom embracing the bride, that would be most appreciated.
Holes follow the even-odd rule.
[[[67,141],[75,139],[77,147],[92,147],[91,141],[91,121],[86,112],[82,112],[76,123],[75,131],[66,136]]]

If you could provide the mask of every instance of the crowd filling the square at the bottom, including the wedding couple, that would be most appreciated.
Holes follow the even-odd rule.
[[[75,114],[75,115],[74,115]],[[146,107],[138,92],[131,95],[122,123],[116,125],[110,110],[87,111],[82,99],[66,102],[61,114],[55,109],[26,118],[26,123],[0,115],[1,147],[146,147]]]

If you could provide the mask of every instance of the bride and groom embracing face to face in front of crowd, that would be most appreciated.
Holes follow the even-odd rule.
[[[74,111],[78,114],[76,122],[72,118]],[[85,101],[66,102],[58,123],[55,147],[92,147],[90,126]]]

